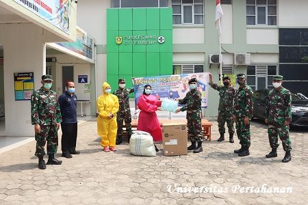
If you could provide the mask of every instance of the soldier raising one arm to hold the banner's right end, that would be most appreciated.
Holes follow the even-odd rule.
[[[229,141],[233,143],[233,134],[234,134],[234,126],[233,126],[233,98],[235,94],[235,87],[231,86],[230,77],[224,77],[222,79],[224,85],[217,85],[213,83],[213,77],[209,74],[209,85],[213,87],[215,90],[219,92],[219,106],[218,106],[218,130],[220,133],[220,137],[217,141],[224,141],[224,123],[227,121],[228,131],[229,131]]]

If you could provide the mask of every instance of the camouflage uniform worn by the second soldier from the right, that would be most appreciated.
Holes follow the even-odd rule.
[[[245,125],[244,118],[249,120],[253,118],[253,90],[248,85],[240,87],[235,92],[233,115],[235,115],[235,128],[238,139],[243,147],[251,146],[251,128],[250,123]]]

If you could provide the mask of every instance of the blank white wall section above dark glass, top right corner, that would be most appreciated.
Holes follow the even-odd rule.
[[[279,27],[307,27],[307,0],[279,0],[278,24]]]

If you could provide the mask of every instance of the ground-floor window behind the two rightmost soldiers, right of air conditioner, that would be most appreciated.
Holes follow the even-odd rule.
[[[247,85],[254,91],[259,89],[273,89],[272,77],[276,75],[277,66],[248,66]]]

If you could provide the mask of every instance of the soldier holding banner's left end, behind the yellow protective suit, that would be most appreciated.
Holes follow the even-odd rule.
[[[133,88],[125,88],[125,79],[118,80],[118,90],[114,91],[114,95],[118,97],[120,107],[116,113],[116,122],[118,123],[118,132],[116,133],[116,144],[122,143],[123,121],[126,126],[126,133],[129,142],[131,137],[131,109],[129,108],[129,94],[133,92]]]

